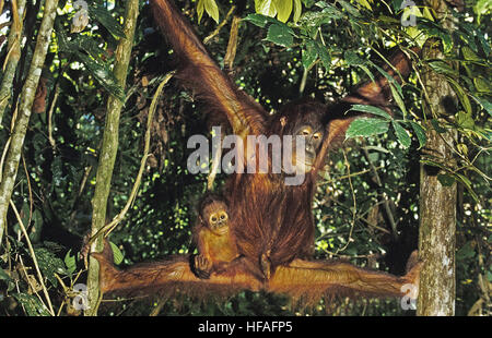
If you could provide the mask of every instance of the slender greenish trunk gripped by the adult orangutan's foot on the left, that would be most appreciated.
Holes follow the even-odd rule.
[[[114,73],[121,88],[125,88],[128,73],[128,65],[131,58],[131,48],[133,46],[134,28],[137,16],[139,14],[139,1],[128,0],[125,13],[124,31],[126,38],[121,38],[116,49],[116,61]],[[115,166],[116,153],[118,152],[118,130],[119,116],[124,102],[115,96],[109,96],[107,100],[106,124],[104,128],[103,146],[99,153],[99,164],[96,173],[96,186],[94,198],[92,200],[92,229],[94,236],[106,222],[106,206],[109,196],[113,169]],[[94,241],[91,252],[102,251],[103,242],[101,239]],[[97,314],[98,302],[98,264],[94,258],[90,258],[87,291],[90,309],[85,315]]]

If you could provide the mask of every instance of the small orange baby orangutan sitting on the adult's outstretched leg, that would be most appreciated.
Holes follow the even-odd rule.
[[[192,263],[199,278],[208,279],[212,273],[224,271],[239,257],[232,236],[225,201],[208,194],[200,203],[197,225],[194,228],[194,243],[198,254]]]

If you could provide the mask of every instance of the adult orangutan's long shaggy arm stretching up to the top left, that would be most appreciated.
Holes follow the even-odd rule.
[[[219,69],[172,1],[150,2],[156,23],[180,60],[178,76],[214,111],[226,114],[236,135],[261,134],[266,116],[261,106],[237,89]]]

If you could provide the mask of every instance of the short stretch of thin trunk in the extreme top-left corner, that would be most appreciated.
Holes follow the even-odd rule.
[[[12,4],[14,2],[12,2]],[[2,84],[0,86],[0,124],[2,123],[3,113],[9,105],[9,100],[13,92],[12,84],[15,75],[15,69],[17,68],[19,59],[21,58],[22,19],[25,11],[25,0],[19,0],[16,4],[17,16],[13,15],[12,26],[10,27],[9,33],[9,45],[7,46],[9,60],[3,72]]]

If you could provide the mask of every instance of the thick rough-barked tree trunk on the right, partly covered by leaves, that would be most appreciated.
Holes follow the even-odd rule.
[[[444,0],[427,1],[440,17],[447,13]],[[449,27],[448,27],[449,28]],[[440,40],[429,40],[423,49],[424,59],[445,59]],[[427,119],[454,114],[456,97],[445,77],[427,70],[423,82],[429,93],[425,107]],[[450,146],[455,131],[438,133],[427,123],[427,143],[423,149],[444,167],[454,168],[456,160]],[[456,232],[456,182],[444,186],[437,179],[444,173],[436,167],[421,166],[420,178],[420,234],[419,253],[424,262],[420,276],[418,315],[455,314],[455,232]]]

